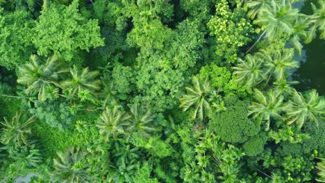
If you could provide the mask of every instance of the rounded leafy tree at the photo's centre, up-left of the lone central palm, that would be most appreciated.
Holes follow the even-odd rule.
[[[153,112],[163,112],[178,105],[178,98],[183,94],[185,77],[182,71],[170,69],[169,61],[162,55],[151,55],[137,72],[136,85],[141,93],[135,97],[135,103]],[[164,69],[165,65],[166,68]]]

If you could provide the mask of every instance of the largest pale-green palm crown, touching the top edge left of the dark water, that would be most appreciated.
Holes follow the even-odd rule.
[[[301,39],[306,39],[310,24],[309,17],[299,12],[298,8],[292,5],[294,1],[249,1],[247,6],[251,8],[250,17],[257,19],[254,21],[262,30],[262,35],[266,35],[269,40],[281,38],[301,55]],[[262,36],[261,35],[261,36]],[[260,36],[260,37],[261,37]]]

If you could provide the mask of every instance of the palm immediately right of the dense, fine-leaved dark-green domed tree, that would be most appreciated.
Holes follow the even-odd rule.
[[[248,116],[253,116],[265,123],[265,130],[269,130],[271,119],[283,119],[281,112],[284,110],[283,95],[277,89],[269,90],[266,94],[254,89],[254,98],[256,102],[252,102],[249,106]]]

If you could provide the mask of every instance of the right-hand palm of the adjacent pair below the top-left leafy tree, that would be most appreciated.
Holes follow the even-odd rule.
[[[95,79],[99,71],[89,71],[88,67],[80,70],[74,66],[70,69],[70,73],[72,78],[61,82],[61,87],[68,89],[71,96],[76,96],[85,90],[94,94],[94,91],[99,89],[100,81]]]

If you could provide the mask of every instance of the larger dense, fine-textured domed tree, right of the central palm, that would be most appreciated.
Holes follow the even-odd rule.
[[[231,97],[225,99],[226,111],[213,114],[209,129],[224,141],[244,143],[259,132],[260,125],[247,118],[249,113],[246,102]]]

